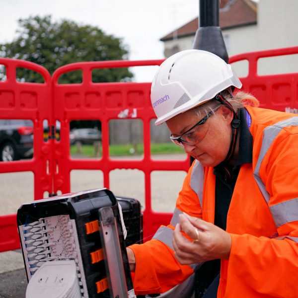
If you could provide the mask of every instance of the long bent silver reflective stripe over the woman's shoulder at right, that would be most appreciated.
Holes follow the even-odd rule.
[[[256,168],[254,170],[254,178],[259,186],[260,191],[263,194],[264,199],[266,200],[267,204],[269,203],[270,195],[266,191],[265,184],[263,183],[260,177],[260,167],[263,162],[263,159],[268,152],[268,149],[271,147],[273,141],[280,133],[280,131],[287,126],[298,126],[298,117],[292,117],[283,121],[280,121],[272,126],[268,126],[264,129],[263,132],[263,140],[262,140],[262,147],[260,150],[259,158],[256,164]]]

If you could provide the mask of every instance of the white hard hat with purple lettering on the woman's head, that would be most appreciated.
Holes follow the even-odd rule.
[[[186,50],[166,59],[151,85],[155,125],[200,105],[219,92],[242,84],[231,66],[215,54]]]

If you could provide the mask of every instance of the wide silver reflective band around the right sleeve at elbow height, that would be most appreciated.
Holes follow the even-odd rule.
[[[298,221],[298,198],[269,207],[277,227]]]

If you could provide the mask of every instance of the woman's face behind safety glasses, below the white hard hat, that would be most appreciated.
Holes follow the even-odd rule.
[[[173,137],[178,137],[192,128],[204,116],[203,114],[199,117],[193,110],[189,110],[169,119],[166,121],[166,125]],[[202,138],[197,140],[198,143],[194,142],[195,145],[184,144],[185,152],[199,160],[203,166],[214,167],[220,164],[224,161],[230,146],[232,119],[232,111],[221,106],[202,126],[198,126],[197,129],[204,132]]]

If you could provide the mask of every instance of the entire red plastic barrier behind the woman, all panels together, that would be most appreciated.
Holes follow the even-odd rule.
[[[298,73],[258,75],[258,60],[266,57],[298,54],[298,47],[241,54],[230,58],[230,63],[248,61],[248,75],[242,77],[243,90],[251,92],[261,107],[297,111]],[[170,221],[170,213],[159,213],[151,208],[150,173],[156,170],[187,171],[185,160],[154,160],[150,153],[150,121],[155,118],[150,104],[150,83],[92,82],[92,70],[134,66],[159,65],[154,61],[107,61],[74,63],[59,68],[52,76],[42,67],[18,60],[0,59],[6,68],[7,79],[0,82],[0,119],[29,119],[34,123],[34,156],[31,160],[0,162],[0,173],[32,171],[34,199],[44,192],[55,194],[71,191],[72,170],[100,170],[104,187],[110,186],[110,172],[114,169],[139,169],[145,177],[144,238],[152,235],[160,224]],[[27,68],[42,74],[44,83],[20,83],[15,69]],[[82,82],[59,84],[59,77],[72,71],[82,72]],[[43,121],[51,127],[50,138],[43,138]],[[70,155],[70,122],[99,120],[102,132],[102,157],[73,159]],[[112,159],[109,154],[109,121],[140,119],[143,122],[144,157],[139,160]],[[56,121],[61,123],[60,140],[53,138]],[[17,185],[16,185],[17,187]],[[136,198],[138,199],[138,198]],[[18,206],[16,206],[17,208]],[[0,251],[19,248],[15,215],[0,216]]]

